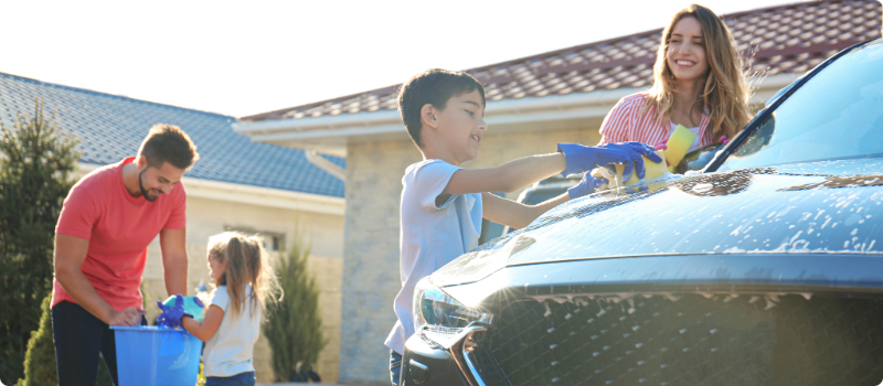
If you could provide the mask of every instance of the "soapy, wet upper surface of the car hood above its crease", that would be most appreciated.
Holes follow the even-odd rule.
[[[551,250],[564,240],[570,244],[562,250],[566,256],[554,258],[576,258],[579,254],[882,253],[875,238],[883,229],[872,219],[883,215],[877,205],[883,193],[863,189],[875,186],[871,184],[830,187],[818,180],[760,170],[757,174],[682,178],[661,189],[651,183],[647,192],[628,200],[617,200],[618,192],[614,192],[594,205],[574,204],[538,219],[524,233],[546,243],[538,243],[521,254],[524,257],[514,259],[535,258],[543,253],[539,246]],[[812,184],[815,187],[807,187]],[[808,190],[808,194],[783,194]],[[598,197],[604,199],[604,194]],[[589,217],[585,225],[579,221]],[[850,227],[845,234],[843,227],[838,228],[843,224]]]

